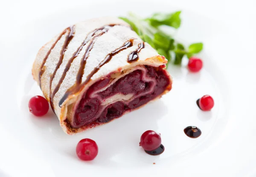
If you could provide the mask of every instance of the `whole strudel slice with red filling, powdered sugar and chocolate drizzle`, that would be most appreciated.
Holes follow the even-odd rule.
[[[54,37],[38,52],[32,73],[64,132],[76,134],[169,92],[166,63],[126,22],[102,17]]]

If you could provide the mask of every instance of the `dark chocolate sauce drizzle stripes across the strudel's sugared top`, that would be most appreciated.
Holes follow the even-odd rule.
[[[64,96],[61,98],[60,102],[59,102],[59,106],[61,107],[61,104],[63,104],[63,102],[67,99],[67,97],[72,94],[72,93],[76,93],[77,91],[79,91],[81,89],[81,86],[84,85],[84,84],[87,84],[88,81],[90,81],[91,77],[98,72],[99,68],[102,67],[103,65],[105,65],[106,63],[108,63],[112,57],[119,53],[120,51],[122,50],[125,50],[131,46],[133,46],[133,40],[134,39],[130,39],[129,41],[125,42],[121,47],[117,48],[116,50],[112,51],[111,53],[109,53],[105,59],[100,62],[100,64],[95,67],[93,69],[93,71],[87,76],[86,80],[81,83],[82,81],[82,76],[84,75],[84,68],[85,68],[85,65],[86,65],[86,60],[90,54],[90,51],[92,50],[93,48],[93,45],[96,41],[96,39],[100,36],[102,36],[102,34],[105,34],[111,27],[115,26],[115,25],[119,25],[119,24],[111,24],[111,25],[105,25],[101,28],[97,28],[96,30],[90,32],[90,34],[87,35],[87,37],[84,39],[84,41],[81,43],[81,45],[79,46],[79,48],[77,48],[77,50],[73,53],[73,55],[71,56],[71,58],[69,59],[69,61],[67,62],[67,65],[64,69],[64,72],[62,73],[61,75],[61,78],[59,79],[58,81],[58,84],[56,85],[55,89],[52,91],[52,81],[53,79],[55,78],[55,75],[58,71],[58,69],[60,68],[62,62],[63,62],[63,59],[64,59],[64,55],[65,55],[65,51],[67,51],[67,48],[68,48],[68,45],[70,43],[70,41],[73,39],[74,35],[75,35],[75,26],[72,26],[72,27],[68,27],[66,28],[60,35],[59,37],[56,39],[56,41],[54,42],[54,44],[52,45],[52,47],[49,49],[49,51],[47,52],[46,56],[44,57],[43,59],[43,62],[42,62],[42,65],[40,67],[40,71],[39,71],[39,85],[40,85],[40,88],[41,88],[41,77],[42,75],[44,74],[44,65],[45,65],[45,62],[47,61],[48,57],[49,57],[49,54],[51,53],[52,49],[55,47],[55,45],[57,44],[57,42],[61,39],[61,37],[67,33],[68,31],[68,35],[66,36],[66,39],[64,41],[64,45],[62,46],[61,48],[61,51],[60,51],[60,57],[59,57],[59,61],[55,67],[55,70],[54,72],[52,73],[52,76],[50,78],[50,94],[49,94],[49,99],[50,99],[50,105],[52,107],[52,110],[53,112],[54,111],[54,105],[53,105],[53,98],[55,96],[55,94],[58,92],[62,82],[64,81],[65,77],[66,77],[66,74],[68,72],[68,70],[70,69],[71,67],[71,64],[72,62],[74,61],[74,59],[76,59],[76,57],[79,55],[79,53],[82,51],[83,47],[90,41],[90,43],[87,45],[87,48],[85,50],[85,53],[84,55],[82,56],[82,59],[81,59],[81,63],[80,63],[80,67],[79,67],[79,70],[78,70],[78,73],[77,73],[77,76],[76,76],[76,82],[75,84],[70,87],[67,92],[64,94]],[[127,26],[128,27],[128,26]],[[128,62],[134,62],[136,61],[137,59],[139,59],[138,57],[138,53],[140,52],[140,50],[142,48],[144,48],[144,42],[141,42],[139,45],[139,47],[137,48],[136,51],[133,51],[129,54],[128,56]]]

